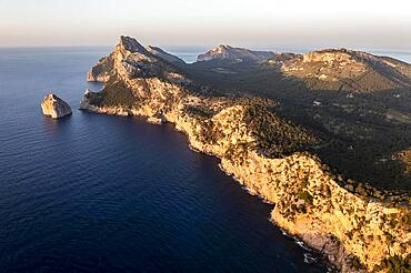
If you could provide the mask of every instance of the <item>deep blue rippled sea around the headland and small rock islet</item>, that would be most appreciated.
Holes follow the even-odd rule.
[[[109,52],[0,49],[0,272],[330,271],[171,124],[78,110]],[[73,114],[43,117],[49,92]]]

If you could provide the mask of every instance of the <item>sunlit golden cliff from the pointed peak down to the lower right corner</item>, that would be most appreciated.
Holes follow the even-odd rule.
[[[110,75],[103,90],[87,91],[81,109],[174,123],[193,149],[220,158],[228,174],[275,204],[275,224],[344,272],[411,259],[409,196],[335,178],[303,152],[321,139],[278,117],[275,103],[198,95],[201,87],[130,38],[122,37],[109,58],[112,69],[94,75]]]

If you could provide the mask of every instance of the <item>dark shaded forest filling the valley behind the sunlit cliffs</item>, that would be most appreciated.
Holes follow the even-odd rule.
[[[301,125],[322,140],[320,145],[288,146],[285,152],[309,150],[345,178],[379,189],[411,193],[411,169],[408,169],[411,164],[407,163],[411,161],[393,159],[399,151],[410,148],[411,124],[387,119],[387,113],[411,112],[411,67],[381,58],[397,65],[388,68],[382,61],[368,62],[365,57],[354,54],[353,59],[364,62],[369,69],[365,74],[341,81],[301,80],[285,77],[277,63],[295,58],[299,57],[280,54],[273,62],[263,64],[199,62],[186,65],[184,73],[199,84],[211,87],[212,92],[204,93],[208,97],[260,97],[278,101],[277,117]],[[215,72],[218,68],[231,72]],[[350,71],[347,73],[349,75]],[[313,107],[313,101],[320,101],[321,107]],[[257,128],[264,128],[267,123],[262,121]],[[273,136],[275,134],[268,133],[263,138],[275,145]],[[272,155],[279,150],[273,149]]]

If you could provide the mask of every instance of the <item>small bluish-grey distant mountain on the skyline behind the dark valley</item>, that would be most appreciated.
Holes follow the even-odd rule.
[[[273,52],[270,51],[255,51],[242,48],[232,48],[227,44],[220,44],[204,54],[200,54],[197,61],[211,61],[211,60],[229,60],[229,61],[251,61],[262,62],[271,57]]]

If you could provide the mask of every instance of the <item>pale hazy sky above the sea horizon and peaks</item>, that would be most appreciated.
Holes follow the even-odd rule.
[[[0,0],[0,47],[348,47],[411,50],[411,1]]]

